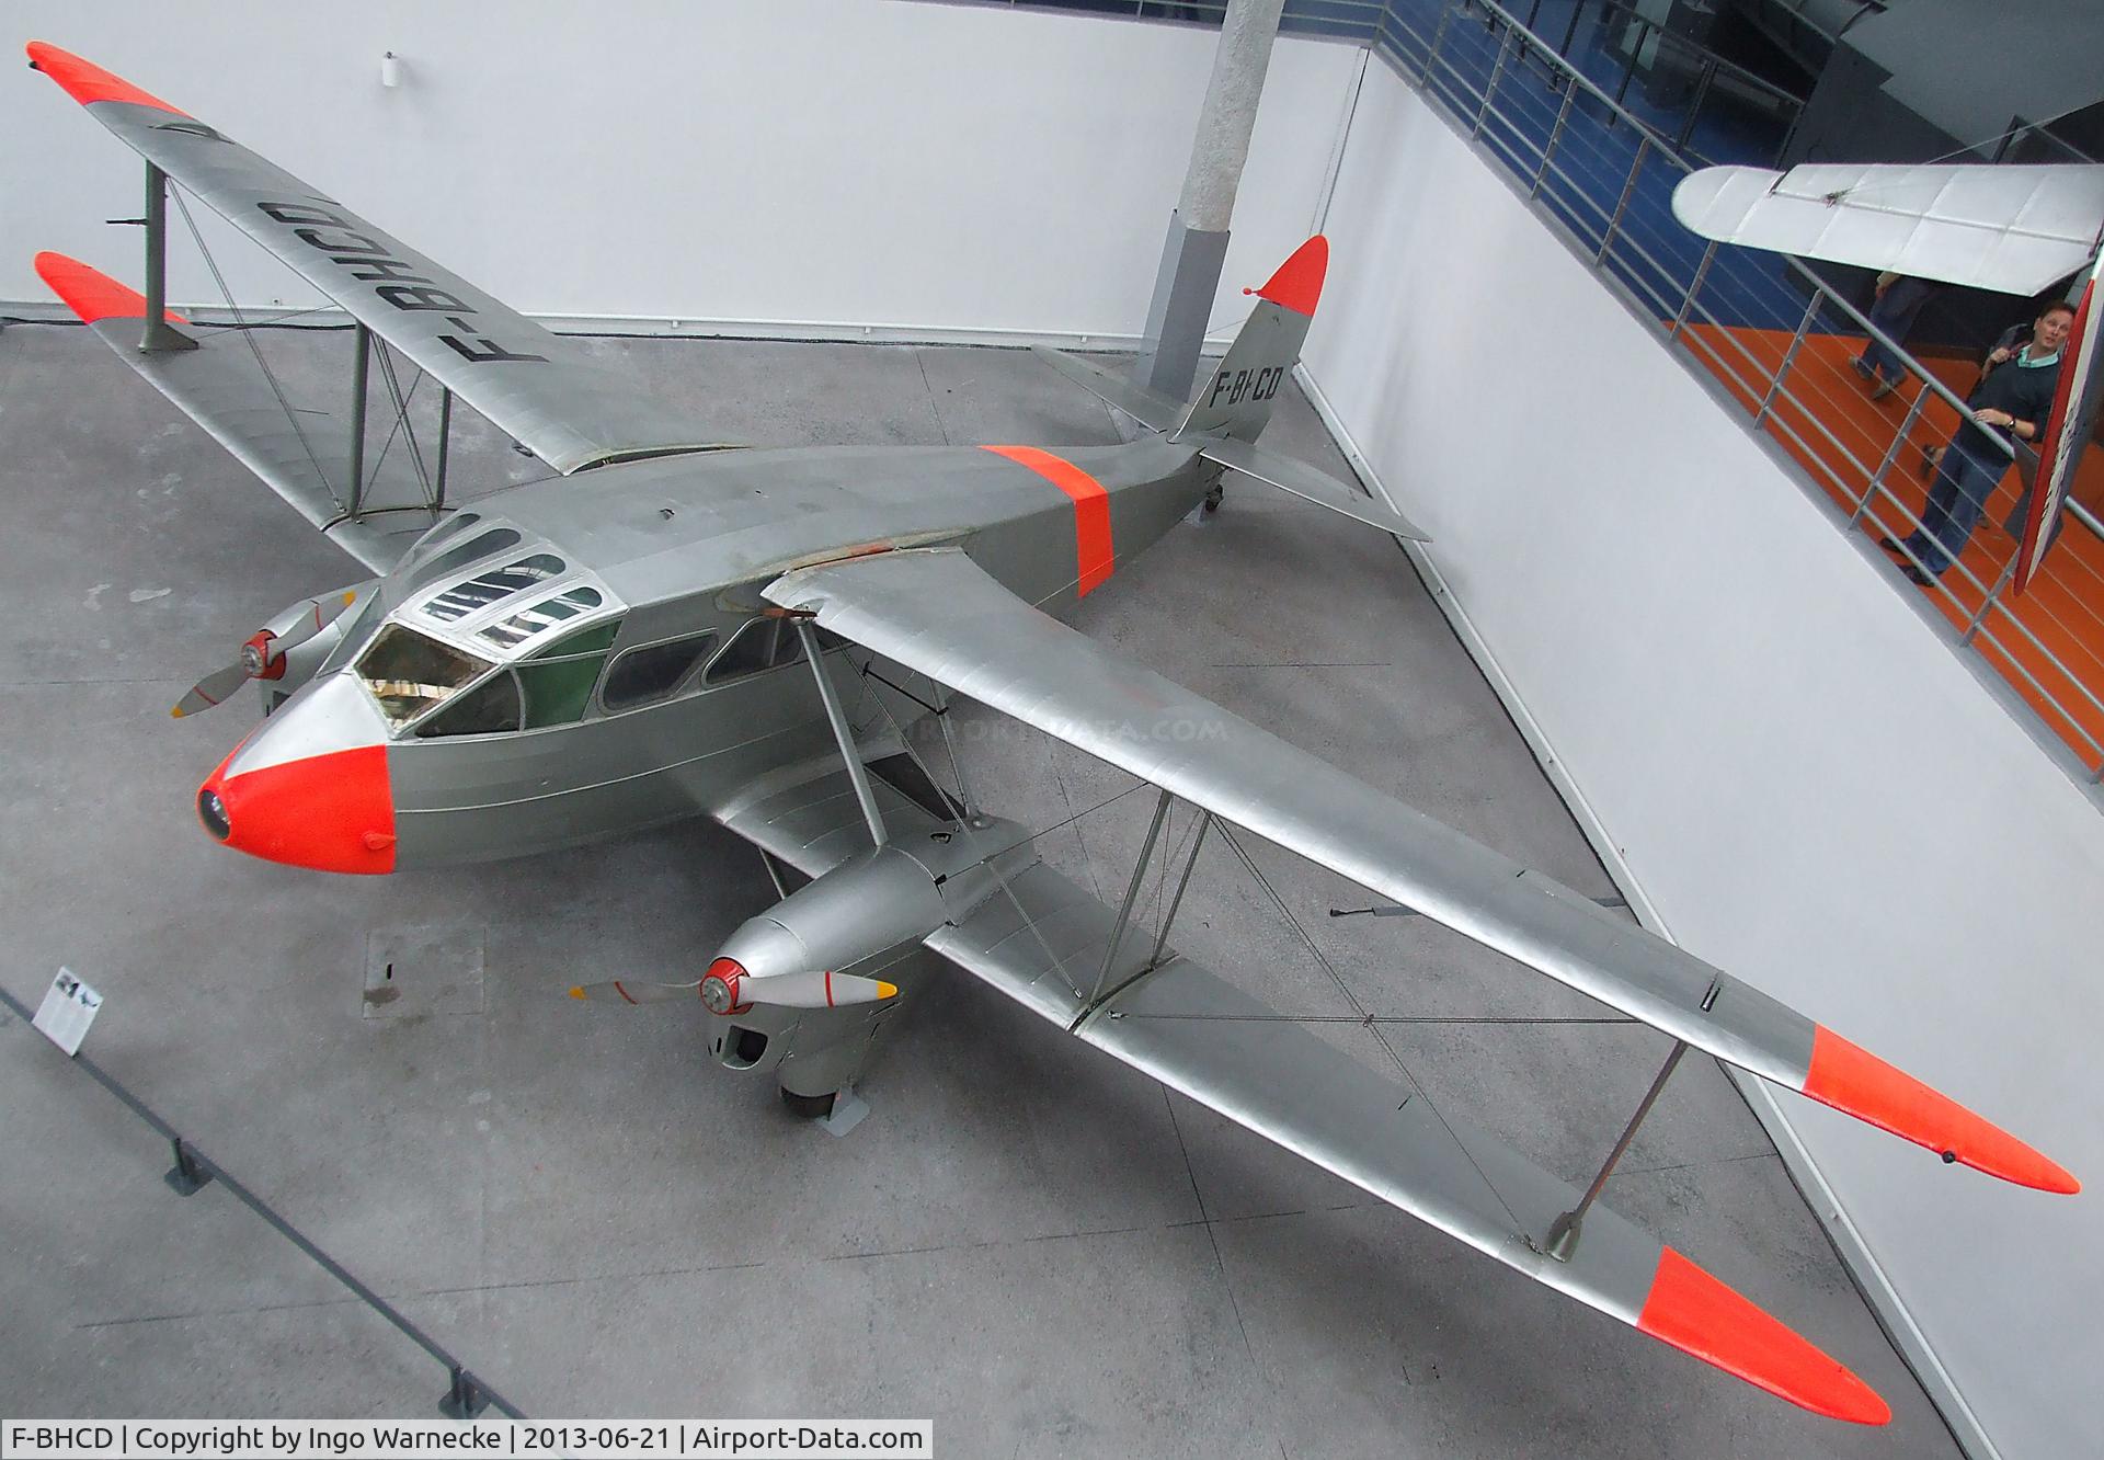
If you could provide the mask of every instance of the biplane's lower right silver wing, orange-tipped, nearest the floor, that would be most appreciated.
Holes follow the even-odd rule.
[[[953,825],[882,776],[875,793],[898,835]],[[869,846],[837,759],[753,787],[717,820],[812,877]],[[1153,940],[1128,930],[1102,982],[1115,993],[1092,1006],[1077,991],[1105,968],[1115,924],[1109,907],[1033,860],[928,947],[1105,1054],[1578,1302],[1814,1414],[1891,1418],[1839,1361],[1603,1205],[1586,1214],[1570,1260],[1546,1256],[1549,1229],[1578,1203],[1574,1187],[1435,1111],[1399,1071],[1347,1058],[1174,949],[1147,970]]]

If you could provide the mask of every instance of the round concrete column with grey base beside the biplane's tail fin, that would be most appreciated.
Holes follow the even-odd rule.
[[[1229,0],[1227,21],[1220,25],[1220,50],[1212,61],[1212,82],[1191,143],[1191,168],[1185,173],[1176,212],[1170,215],[1155,297],[1147,305],[1147,341],[1132,368],[1136,385],[1172,400],[1185,400],[1197,374],[1197,351],[1220,286],[1235,187],[1241,185],[1241,166],[1250,156],[1250,133],[1256,128],[1256,103],[1265,95],[1281,8],[1286,0]]]

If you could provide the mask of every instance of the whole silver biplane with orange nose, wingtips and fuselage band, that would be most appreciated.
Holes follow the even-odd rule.
[[[1601,1182],[1580,1193],[1302,1025],[1220,1018],[1269,1010],[1176,953],[1168,921],[1149,938],[1130,919],[1170,799],[1199,808],[1199,837],[1212,818],[1267,837],[1666,1031],[1675,1054],[1706,1050],[1944,1161],[2077,1191],[1814,1018],[1058,623],[1227,469],[1418,536],[1256,444],[1321,295],[1319,236],[1248,290],[1248,324],[1191,402],[1046,356],[1138,423],[1126,444],[726,448],[204,122],[55,46],[29,44],[29,61],[147,162],[147,292],[55,255],[42,278],[368,574],[288,608],[177,707],[248,680],[265,690],[267,717],[198,791],[217,841],[387,873],[713,816],[808,881],[778,879],[783,900],[690,980],[576,993],[701,999],[720,1062],[770,1071],[793,1050],[806,1083],[785,1090],[823,1104],[892,1008],[884,974],[934,949],[1479,1252],[1841,1420],[1889,1410],[1593,1205]],[[370,332],[381,360],[400,351],[558,475],[461,509],[421,482],[368,482],[358,431],[324,442],[246,372],[238,330],[166,311],[166,181],[349,311],[360,362]],[[850,722],[844,692],[882,715]],[[1121,909],[1048,867],[1025,827],[936,783],[905,728],[951,694],[1159,789]],[[1214,1018],[1182,1018],[1195,1014]]]

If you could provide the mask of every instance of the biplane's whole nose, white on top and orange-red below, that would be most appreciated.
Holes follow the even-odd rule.
[[[393,871],[385,722],[347,675],[309,686],[198,787],[198,820],[217,841],[269,863]]]

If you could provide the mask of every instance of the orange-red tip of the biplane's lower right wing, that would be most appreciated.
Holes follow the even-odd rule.
[[[1891,1407],[1843,1363],[1673,1248],[1658,1254],[1637,1327],[1812,1414],[1849,1424],[1891,1420]]]

